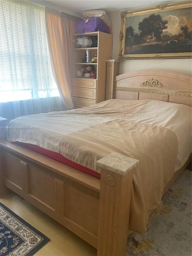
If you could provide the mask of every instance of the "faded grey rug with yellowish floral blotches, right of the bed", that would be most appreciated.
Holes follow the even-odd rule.
[[[184,170],[151,215],[144,236],[131,234],[126,256],[191,256],[191,171]]]

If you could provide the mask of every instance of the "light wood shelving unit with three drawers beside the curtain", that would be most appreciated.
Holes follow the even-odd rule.
[[[75,34],[73,39],[80,35],[97,36],[97,47],[78,48],[73,43],[73,80],[72,80],[72,99],[75,108],[87,107],[92,104],[105,101],[106,94],[106,60],[112,57],[112,35],[104,32],[91,32],[86,34]],[[91,56],[97,53],[97,63],[81,62],[86,51],[91,51]],[[97,79],[77,77],[77,71],[85,65],[94,67],[97,71]]]

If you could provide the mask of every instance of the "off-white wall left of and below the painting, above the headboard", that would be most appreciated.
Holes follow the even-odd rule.
[[[113,23],[111,34],[113,35],[112,59],[118,59],[119,32],[121,29],[121,11],[107,13]],[[191,59],[130,59],[119,63],[119,74],[143,69],[167,70],[192,76]]]

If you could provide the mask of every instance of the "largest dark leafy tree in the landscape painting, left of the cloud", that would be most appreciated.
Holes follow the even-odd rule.
[[[167,29],[167,20],[163,20],[161,15],[151,14],[139,23],[140,38],[145,35],[151,35],[154,33],[154,37],[158,41],[162,41],[162,33],[164,29]]]

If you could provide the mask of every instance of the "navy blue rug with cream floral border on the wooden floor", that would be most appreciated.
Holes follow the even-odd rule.
[[[0,203],[0,255],[31,256],[49,240]]]

